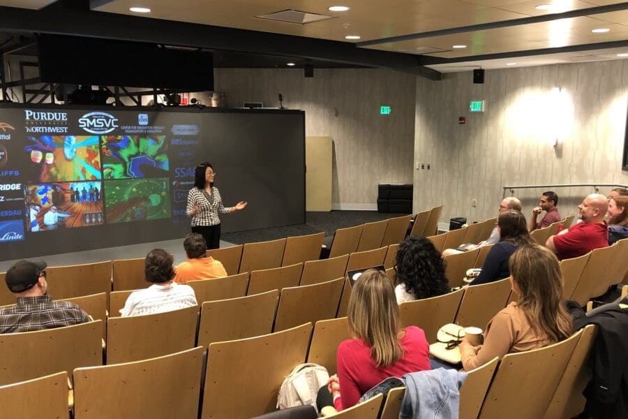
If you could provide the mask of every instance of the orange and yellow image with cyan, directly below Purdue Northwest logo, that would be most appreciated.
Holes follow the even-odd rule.
[[[99,180],[98,135],[29,135],[28,153],[32,182]]]

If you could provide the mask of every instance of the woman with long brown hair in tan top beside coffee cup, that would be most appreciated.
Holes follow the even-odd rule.
[[[470,371],[507,353],[555,344],[571,335],[572,321],[562,304],[558,259],[538,244],[528,244],[510,257],[512,291],[519,296],[486,325],[484,344],[460,344],[465,370]]]

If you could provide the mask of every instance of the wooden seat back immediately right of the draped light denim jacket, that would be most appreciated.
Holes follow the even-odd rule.
[[[477,418],[499,360],[500,358],[495,357],[481,367],[468,372],[467,378],[460,388],[460,410],[458,411],[460,418]]]

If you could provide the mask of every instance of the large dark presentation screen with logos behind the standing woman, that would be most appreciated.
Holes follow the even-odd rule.
[[[0,260],[183,238],[195,167],[223,233],[305,222],[296,110],[0,106]]]

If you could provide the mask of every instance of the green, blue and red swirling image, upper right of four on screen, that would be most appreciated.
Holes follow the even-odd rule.
[[[165,135],[103,135],[105,179],[141,179],[168,173]]]

